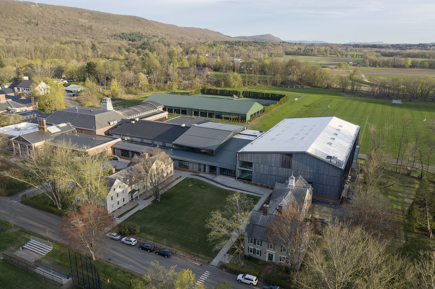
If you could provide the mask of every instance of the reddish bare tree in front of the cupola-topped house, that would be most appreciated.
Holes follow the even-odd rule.
[[[305,220],[305,213],[296,201],[284,206],[271,220],[267,229],[268,241],[272,246],[281,246],[281,256],[289,264],[291,273],[302,263],[311,241],[311,230],[312,225]],[[278,252],[278,248],[275,251]]]

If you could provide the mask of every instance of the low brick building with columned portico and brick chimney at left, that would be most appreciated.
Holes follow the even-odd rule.
[[[119,138],[78,132],[70,123],[47,127],[45,118],[38,118],[37,131],[20,134],[10,139],[13,153],[20,156],[31,150],[42,150],[46,143],[58,145],[60,142],[70,142],[74,150],[86,151],[97,157],[100,153],[112,154],[111,146],[118,141]]]

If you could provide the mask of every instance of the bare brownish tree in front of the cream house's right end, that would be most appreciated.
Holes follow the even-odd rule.
[[[161,148],[152,148],[149,158],[147,154],[142,154],[141,157],[136,166],[138,177],[147,182],[147,185],[153,190],[154,197],[159,200],[161,184],[165,180],[173,161],[169,154],[162,151]]]

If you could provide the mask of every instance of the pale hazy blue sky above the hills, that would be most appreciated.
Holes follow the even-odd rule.
[[[229,36],[283,40],[435,42],[435,0],[40,0]]]

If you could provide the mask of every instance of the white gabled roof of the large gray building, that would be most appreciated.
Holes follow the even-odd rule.
[[[307,152],[343,167],[359,129],[335,116],[285,118],[239,152]]]

